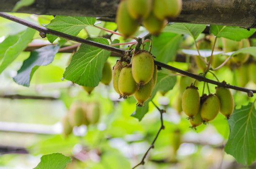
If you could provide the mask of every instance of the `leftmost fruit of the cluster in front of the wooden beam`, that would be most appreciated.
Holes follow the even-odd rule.
[[[128,13],[127,3],[128,0],[120,1],[116,17],[118,31],[124,36],[124,38],[132,36],[139,27],[138,21],[133,19]]]

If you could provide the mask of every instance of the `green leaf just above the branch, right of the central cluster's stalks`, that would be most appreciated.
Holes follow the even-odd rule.
[[[156,60],[168,63],[176,57],[176,52],[179,49],[182,40],[182,35],[163,32],[158,37],[153,37],[153,46],[151,53],[156,56]]]

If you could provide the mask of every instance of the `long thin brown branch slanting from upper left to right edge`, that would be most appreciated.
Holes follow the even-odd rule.
[[[115,48],[115,47],[112,47],[112,46],[107,46],[107,45],[97,43],[97,42],[93,42],[93,41],[90,41],[90,40],[77,38],[77,37],[62,33],[62,32],[50,30],[50,29],[47,29],[45,27],[41,27],[41,26],[36,25],[34,23],[30,23],[30,22],[25,21],[23,19],[17,18],[15,16],[5,14],[3,12],[0,12],[0,16],[4,17],[6,19],[9,19],[11,21],[14,21],[16,23],[23,24],[25,26],[28,26],[28,27],[30,27],[32,29],[35,29],[37,31],[40,31],[40,32],[48,33],[48,34],[55,35],[55,36],[58,36],[58,37],[61,37],[61,38],[66,38],[66,39],[69,39],[69,40],[72,40],[72,41],[75,41],[75,42],[79,42],[79,43],[82,43],[82,44],[86,44],[86,45],[89,45],[89,46],[95,46],[95,47],[105,49],[105,50],[108,50],[108,51],[111,51],[111,52],[114,52],[114,53],[117,53],[117,54],[129,55],[129,53],[130,53],[129,50],[124,50],[124,49],[119,49],[119,48]],[[210,84],[216,84],[216,85],[219,85],[219,86],[223,86],[223,87],[234,89],[234,90],[241,91],[241,92],[247,92],[248,96],[250,96],[250,97],[253,96],[253,93],[256,93],[256,90],[247,89],[247,88],[243,88],[243,87],[238,87],[238,86],[234,86],[234,85],[230,85],[230,84],[217,82],[217,81],[205,78],[203,76],[195,75],[195,74],[190,73],[188,71],[177,69],[175,67],[172,67],[172,66],[169,66],[167,64],[161,63],[160,61],[154,61],[154,63],[155,63],[155,65],[157,65],[159,67],[169,69],[169,70],[173,70],[177,73],[180,73],[180,74],[183,74],[185,76],[197,79],[198,81],[203,81],[203,82],[207,82],[207,83],[210,83]]]

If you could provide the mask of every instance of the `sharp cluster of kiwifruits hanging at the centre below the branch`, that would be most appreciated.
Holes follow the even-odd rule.
[[[115,91],[124,99],[134,95],[139,107],[151,97],[156,78],[157,67],[154,65],[154,58],[145,50],[135,51],[131,63],[117,61],[113,67]]]

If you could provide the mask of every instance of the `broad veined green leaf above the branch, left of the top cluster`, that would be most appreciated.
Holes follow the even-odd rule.
[[[96,21],[94,17],[79,17],[79,16],[59,16],[57,15],[51,23],[45,27],[55,31],[60,31],[72,36],[76,36],[79,32],[88,25],[93,25]],[[56,36],[47,34],[49,42],[53,43]]]

